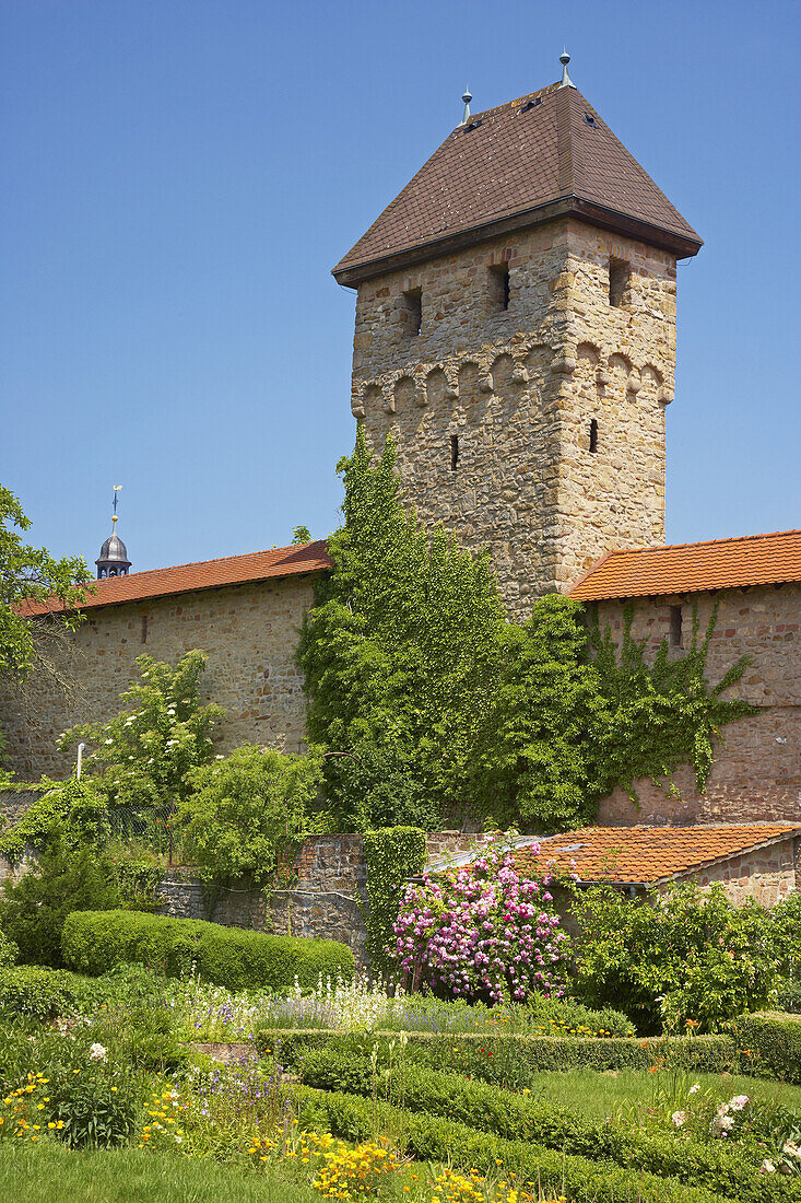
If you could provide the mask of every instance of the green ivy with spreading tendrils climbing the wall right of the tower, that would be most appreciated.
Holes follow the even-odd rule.
[[[640,644],[631,636],[633,617],[634,608],[627,605],[619,650],[609,628],[601,632],[595,623],[592,632],[604,703],[604,719],[593,733],[600,789],[609,793],[619,784],[636,800],[634,782],[639,777],[670,778],[681,764],[690,764],[702,793],[720,727],[754,712],[747,701],[722,697],[741,678],[748,658],[741,657],[717,685],[706,681],[717,605],[702,639],[694,609],[689,648],[671,657],[665,640],[653,663],[646,660],[646,641]]]

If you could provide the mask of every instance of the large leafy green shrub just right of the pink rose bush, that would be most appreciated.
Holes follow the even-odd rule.
[[[641,905],[601,885],[578,894],[574,914],[577,992],[591,1006],[624,1007],[641,1031],[687,1023],[719,1031],[770,998],[770,914],[753,902],[735,907],[720,885],[653,890]]]

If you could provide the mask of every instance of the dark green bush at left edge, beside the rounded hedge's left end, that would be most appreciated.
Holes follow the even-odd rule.
[[[0,899],[0,926],[32,965],[61,961],[61,931],[67,915],[117,906],[119,896],[108,864],[96,847],[76,847],[54,838],[40,860]]]

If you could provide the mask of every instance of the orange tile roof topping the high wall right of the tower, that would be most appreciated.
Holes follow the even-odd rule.
[[[570,589],[577,602],[801,581],[801,531],[607,551]]]

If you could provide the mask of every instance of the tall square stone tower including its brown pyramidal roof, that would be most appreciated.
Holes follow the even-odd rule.
[[[664,543],[676,261],[701,241],[572,85],[469,115],[333,271],[352,411],[506,604]]]

